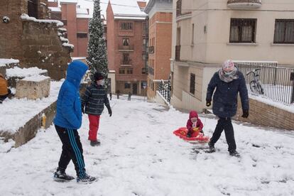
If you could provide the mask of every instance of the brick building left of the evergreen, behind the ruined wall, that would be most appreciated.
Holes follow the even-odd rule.
[[[62,21],[67,39],[75,45],[72,57],[87,57],[89,9],[82,9],[77,0],[49,0],[51,18]]]

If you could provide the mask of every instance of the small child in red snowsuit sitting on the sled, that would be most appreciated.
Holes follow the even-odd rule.
[[[189,119],[187,120],[187,138],[194,138],[200,133],[203,133],[202,121],[198,118],[197,111],[190,111]]]

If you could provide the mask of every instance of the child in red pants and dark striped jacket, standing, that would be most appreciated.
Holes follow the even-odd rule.
[[[96,72],[93,82],[87,87],[82,97],[82,113],[89,116],[89,141],[91,146],[99,146],[100,141],[97,140],[97,132],[99,129],[100,115],[107,107],[108,114],[111,116],[112,111],[107,97],[107,91],[104,89],[104,76],[101,72]]]

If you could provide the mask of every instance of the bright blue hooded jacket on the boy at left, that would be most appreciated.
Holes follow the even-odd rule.
[[[80,61],[73,61],[68,65],[66,80],[63,82],[58,94],[54,124],[66,129],[80,129],[82,125],[82,109],[79,87],[87,70],[87,65]]]

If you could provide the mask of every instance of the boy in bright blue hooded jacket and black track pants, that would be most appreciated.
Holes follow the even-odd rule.
[[[65,170],[70,160],[75,164],[77,182],[92,182],[96,178],[87,175],[85,161],[82,155],[82,143],[77,129],[82,125],[82,110],[80,102],[80,82],[88,67],[80,61],[73,61],[67,67],[67,76],[63,82],[57,100],[57,112],[54,119],[55,129],[62,142],[62,153],[58,169],[54,174],[57,181],[74,179]]]

